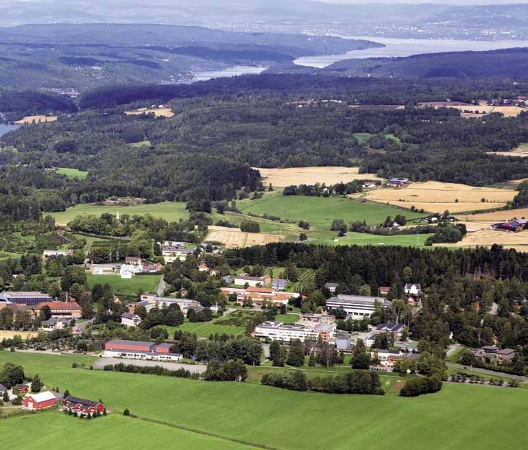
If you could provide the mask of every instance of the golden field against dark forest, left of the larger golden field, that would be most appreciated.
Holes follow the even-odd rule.
[[[335,185],[338,182],[349,182],[352,180],[380,180],[381,178],[372,174],[359,174],[359,167],[287,167],[286,169],[259,169],[264,178],[264,183],[272,183],[276,187],[287,187],[291,185],[315,185],[315,183],[326,183]]]

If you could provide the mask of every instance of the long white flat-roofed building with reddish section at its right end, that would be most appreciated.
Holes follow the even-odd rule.
[[[254,337],[261,339],[290,342],[292,339],[317,340],[321,335],[324,342],[335,335],[335,323],[317,324],[315,327],[306,327],[302,324],[284,324],[283,322],[264,322],[255,328]]]

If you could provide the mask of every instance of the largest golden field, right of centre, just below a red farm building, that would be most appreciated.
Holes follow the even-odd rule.
[[[515,196],[512,189],[473,187],[439,181],[413,182],[409,187],[381,187],[368,193],[351,194],[372,202],[388,203],[410,209],[423,209],[431,213],[450,211],[483,211],[501,208]],[[481,199],[485,198],[485,202]],[[458,202],[456,201],[458,200]]]

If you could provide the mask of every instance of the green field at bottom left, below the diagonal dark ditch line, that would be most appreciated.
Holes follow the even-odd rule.
[[[39,437],[36,440],[34,433],[20,433],[16,432],[17,429],[42,430],[42,432],[38,433]],[[121,412],[100,417],[95,421],[81,420],[56,411],[39,412],[0,421],[2,445],[6,449],[71,449],[71,440],[64,438],[65,429],[71,436],[75,436],[78,442],[90,442],[90,447],[93,449],[149,448],[152,442],[177,450],[222,450],[226,446],[235,450],[252,448],[213,436],[125,417]]]

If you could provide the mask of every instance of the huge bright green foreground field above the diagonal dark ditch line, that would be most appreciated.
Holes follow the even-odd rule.
[[[437,394],[405,399],[392,393],[385,396],[315,394],[252,383],[200,382],[71,368],[73,362],[91,360],[86,356],[0,353],[0,363],[21,364],[28,374],[39,373],[45,383],[58,385],[62,391],[67,388],[73,395],[101,398],[110,410],[128,407],[132,414],[139,416],[283,450],[392,450],[395,447],[496,450],[518,448],[520,442],[528,440],[525,427],[528,392],[524,389],[448,384]],[[468,414],[468,411],[478,414]],[[18,437],[20,427],[10,427],[11,420],[19,419],[6,419],[0,427],[7,425],[9,436],[14,433]],[[99,426],[104,427],[105,418],[93,421],[94,426],[98,420]],[[335,427],[335,423],[353,425]],[[31,427],[32,434],[40,436],[50,427],[47,422],[40,424]],[[314,424],[318,429],[333,431],[301,432],[313,430]],[[82,425],[92,426],[92,421]],[[143,422],[136,423],[136,429],[141,430],[143,425]],[[361,433],[353,433],[352,426]],[[500,434],[496,432],[498,427]],[[475,432],[476,429],[479,431]],[[125,439],[119,427],[115,433],[110,430],[103,436],[114,442],[116,435]],[[159,435],[152,435],[151,447],[163,445],[165,440]],[[178,441],[171,447],[179,448],[175,445]],[[214,447],[189,443],[185,448]],[[224,448],[237,447],[229,444]]]

